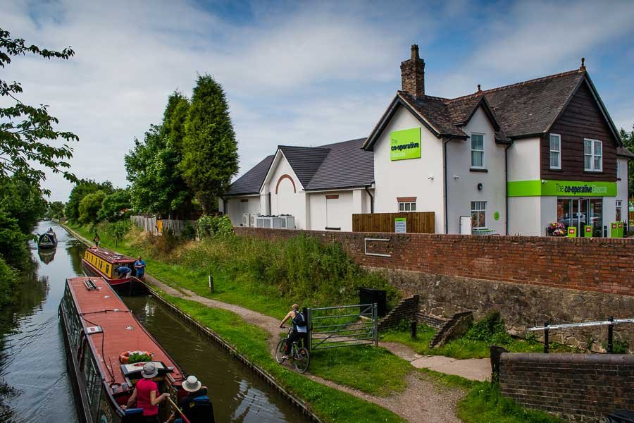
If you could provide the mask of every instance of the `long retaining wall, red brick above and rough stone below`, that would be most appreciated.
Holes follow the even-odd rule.
[[[435,234],[350,233],[236,228],[242,235],[299,234],[339,242],[352,259],[380,271],[406,296],[420,295],[420,312],[475,319],[499,310],[509,331],[552,324],[634,317],[634,241]],[[368,241],[366,238],[385,241]],[[390,255],[383,257],[374,254]],[[630,341],[634,324],[616,326]],[[538,333],[538,338],[542,333]],[[551,331],[552,342],[601,351],[607,329]]]

